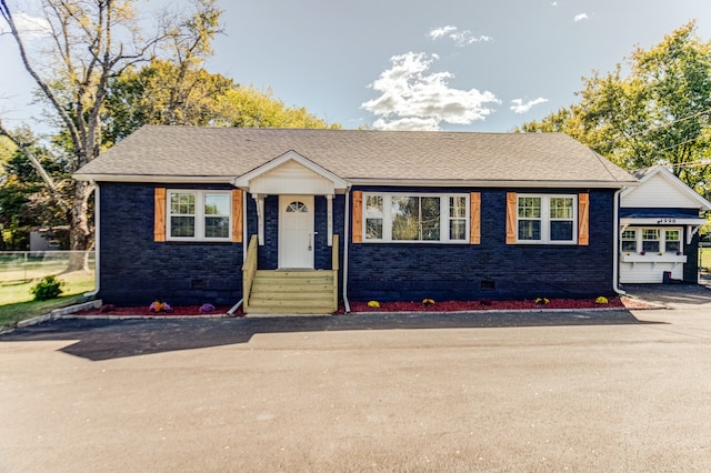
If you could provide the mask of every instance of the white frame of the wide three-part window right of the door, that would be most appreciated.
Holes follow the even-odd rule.
[[[368,198],[381,195],[382,197],[382,239],[369,239],[367,231],[368,223]],[[392,240],[392,208],[393,197],[417,197],[417,198],[439,198],[440,199],[440,239],[439,240]],[[464,238],[462,240],[451,240],[449,238],[449,199],[450,198],[464,198]],[[471,202],[469,193],[419,193],[419,192],[363,192],[363,207],[362,207],[362,235],[363,243],[425,243],[425,244],[468,244],[470,233],[470,212]],[[457,218],[455,219],[462,219]]]

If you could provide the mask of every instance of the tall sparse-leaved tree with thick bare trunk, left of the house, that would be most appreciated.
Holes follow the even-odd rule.
[[[221,11],[214,0],[199,0],[188,19],[163,16],[157,32],[147,39],[136,20],[133,0],[41,0],[48,46],[43,54],[31,54],[7,0],[0,0],[0,14],[18,46],[24,69],[47,101],[62,132],[60,141],[69,148],[70,171],[93,160],[101,150],[101,112],[109,81],[127,68],[147,61],[159,47],[179,46],[194,56],[209,50],[219,30]],[[44,58],[52,63],[42,66]],[[183,56],[187,62],[192,57]],[[72,181],[71,198],[62,195],[41,160],[0,120],[0,135],[9,138],[41,175],[57,204],[71,222],[70,249],[87,250],[92,244],[88,207],[93,187]],[[81,256],[81,255],[80,255]],[[72,269],[82,264],[72,260]]]

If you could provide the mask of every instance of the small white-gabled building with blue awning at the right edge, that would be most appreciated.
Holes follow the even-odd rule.
[[[620,199],[620,282],[697,283],[698,231],[711,203],[661,165],[634,177],[640,185]]]

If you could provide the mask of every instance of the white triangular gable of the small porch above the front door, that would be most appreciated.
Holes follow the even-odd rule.
[[[288,174],[279,175],[280,168],[291,168]],[[232,182],[248,192],[260,194],[312,194],[329,195],[344,193],[348,183],[296,151],[289,151]]]

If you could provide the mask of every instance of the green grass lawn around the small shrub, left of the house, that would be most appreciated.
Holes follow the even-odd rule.
[[[57,278],[66,282],[62,286],[62,295],[49,301],[32,300],[33,295],[30,293],[30,289],[39,280],[0,283],[0,328],[14,326],[24,319],[86,302],[87,298],[82,294],[94,289],[93,271],[76,271],[58,274]]]

